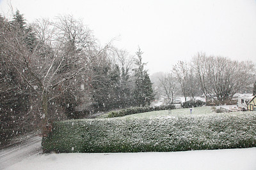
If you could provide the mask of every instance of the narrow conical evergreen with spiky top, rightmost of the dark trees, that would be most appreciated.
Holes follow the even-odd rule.
[[[147,71],[144,70],[144,66],[146,65],[146,63],[142,62],[142,54],[143,52],[141,52],[139,48],[138,52],[136,52],[138,59],[135,60],[137,68],[134,69],[134,75],[136,77],[134,89],[134,103],[138,106],[149,105],[150,102],[154,99],[152,83],[150,81]]]

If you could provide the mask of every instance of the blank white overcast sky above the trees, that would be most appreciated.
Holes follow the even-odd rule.
[[[0,13],[20,10],[28,22],[71,14],[104,45],[135,54],[140,46],[149,73],[170,71],[197,52],[256,63],[255,0],[0,0]]]

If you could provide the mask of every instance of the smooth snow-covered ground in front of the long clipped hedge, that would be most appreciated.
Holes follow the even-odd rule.
[[[13,169],[256,169],[256,148],[149,153],[39,154]],[[1,167],[0,167],[1,169]]]

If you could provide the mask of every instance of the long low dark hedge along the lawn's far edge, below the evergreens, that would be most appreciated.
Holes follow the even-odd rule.
[[[126,115],[132,115],[136,113],[145,113],[148,111],[159,111],[159,110],[173,110],[175,108],[174,105],[168,105],[168,106],[155,106],[155,107],[145,107],[145,108],[128,108],[120,111],[110,111],[107,113],[108,118],[113,117],[124,117]]]

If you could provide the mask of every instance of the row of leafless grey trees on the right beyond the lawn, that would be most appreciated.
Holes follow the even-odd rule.
[[[158,87],[170,103],[175,94],[184,96],[185,101],[204,96],[206,101],[227,103],[238,92],[255,94],[255,79],[252,61],[238,62],[198,52],[189,63],[177,62],[170,73],[159,78]]]

